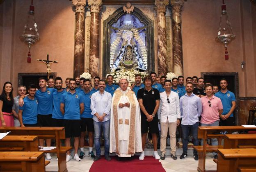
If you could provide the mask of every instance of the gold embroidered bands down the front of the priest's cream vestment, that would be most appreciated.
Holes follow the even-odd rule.
[[[114,118],[114,131],[115,131],[115,138],[116,138],[116,153],[119,154],[119,138],[118,138],[118,105],[120,97],[123,95],[123,93],[120,90],[117,90],[114,92],[116,95],[113,100],[113,118]],[[128,145],[128,154],[134,154],[135,151],[135,115],[136,115],[136,103],[133,97],[134,92],[128,90],[128,92],[125,94],[128,97],[128,100],[130,101],[130,121],[127,121],[125,119],[125,124],[130,123],[130,131],[129,131],[129,145]],[[121,122],[121,121],[120,121]]]

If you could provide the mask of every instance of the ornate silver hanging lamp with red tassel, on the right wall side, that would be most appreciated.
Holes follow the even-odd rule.
[[[229,18],[226,11],[226,4],[224,0],[222,0],[222,11],[220,14],[219,20],[219,32],[218,36],[216,37],[218,41],[224,43],[225,45],[225,59],[229,59],[229,53],[227,50],[227,44],[235,38],[233,34],[233,29],[231,27],[231,23],[229,22]]]

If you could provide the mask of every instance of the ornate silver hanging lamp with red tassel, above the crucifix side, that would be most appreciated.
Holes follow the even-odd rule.
[[[23,34],[20,36],[20,40],[28,45],[27,63],[31,63],[31,45],[39,41],[39,33],[37,31],[38,29],[34,17],[33,0],[31,0],[30,10],[28,11],[27,16],[27,23],[24,26]]]

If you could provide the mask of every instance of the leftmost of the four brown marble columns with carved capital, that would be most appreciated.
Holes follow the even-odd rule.
[[[85,70],[85,5],[86,0],[72,0],[75,7],[74,73],[80,76]]]

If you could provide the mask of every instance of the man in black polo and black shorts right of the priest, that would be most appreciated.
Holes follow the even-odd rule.
[[[141,113],[141,124],[142,124],[142,149],[143,152],[139,156],[139,160],[144,160],[144,147],[146,144],[146,134],[148,128],[152,134],[152,141],[154,145],[155,159],[160,159],[157,152],[157,134],[158,134],[158,115],[157,111],[160,104],[160,94],[155,88],[152,88],[153,80],[151,76],[144,77],[145,88],[138,91],[137,97],[139,101],[140,113]]]

